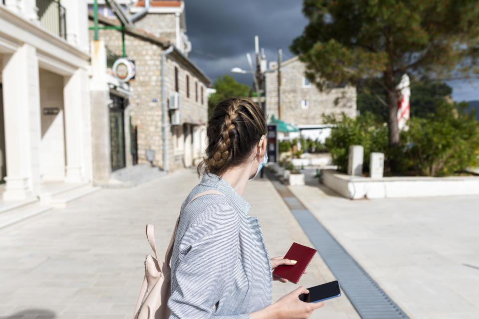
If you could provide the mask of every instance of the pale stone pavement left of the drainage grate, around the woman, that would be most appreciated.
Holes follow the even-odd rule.
[[[184,169],[134,188],[102,189],[0,231],[0,318],[130,319],[151,253],[145,225],[156,227],[164,254],[181,203],[199,182]],[[270,257],[293,241],[312,246],[267,179],[244,194]],[[298,285],[334,280],[316,255]],[[273,282],[273,302],[298,287]],[[311,318],[359,318],[346,296],[325,302]]]

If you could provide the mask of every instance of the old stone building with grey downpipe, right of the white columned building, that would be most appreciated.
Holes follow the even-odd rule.
[[[126,7],[127,10],[134,13],[144,3],[138,1],[134,5]],[[128,59],[134,61],[136,75],[128,82],[129,87],[123,94],[111,91],[111,88],[114,88],[112,81],[109,81],[107,86],[103,85],[103,88],[98,89],[103,92],[109,90],[107,95],[110,95],[110,98],[119,96],[124,101],[120,108],[122,113],[119,114],[119,121],[123,123],[123,132],[120,134],[123,135],[124,143],[120,149],[123,150],[125,160],[121,163],[122,165],[114,167],[111,165],[112,160],[104,152],[105,140],[94,146],[93,154],[96,165],[94,171],[97,181],[107,180],[114,168],[133,165],[136,159],[138,163],[147,163],[151,160],[161,169],[166,168],[167,171],[173,171],[181,167],[192,166],[201,158],[202,150],[206,146],[208,114],[206,88],[210,84],[210,79],[188,58],[191,44],[185,35],[184,16],[183,1],[151,1],[151,7],[146,14],[135,22],[135,29],[126,28],[125,53]],[[92,11],[89,12],[89,17],[90,26],[92,26]],[[118,27],[120,25],[116,19],[99,16],[100,27]],[[90,39],[93,40],[91,28]],[[93,41],[94,45],[95,42]],[[99,43],[104,43],[107,55],[113,56],[113,59],[122,56],[120,30],[100,29]],[[176,43],[180,43],[180,47]],[[101,44],[99,46],[101,48]],[[165,78],[162,80],[161,56],[170,46],[173,50],[166,55]],[[111,72],[111,69],[107,67],[106,73]],[[164,98],[167,104],[165,114],[166,165],[163,160],[162,81],[165,85]],[[122,139],[117,139],[116,145],[113,145],[114,137],[111,136],[111,127],[115,124],[112,120],[111,109],[108,108],[108,103],[105,104],[102,101],[98,91],[92,92],[92,94],[95,94],[92,104],[93,100],[98,104],[97,120],[100,119],[92,130],[104,131],[104,125],[100,122],[110,122],[110,153],[113,154],[113,149],[118,148],[117,144],[121,144]],[[174,104],[179,104],[179,107],[173,109]],[[136,134],[132,134],[132,130],[135,130]],[[104,132],[101,135],[104,136]],[[108,166],[109,164],[110,166]]]

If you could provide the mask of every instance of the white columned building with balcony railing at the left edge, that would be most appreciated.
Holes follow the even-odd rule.
[[[86,0],[0,1],[3,203],[91,190],[87,27]]]

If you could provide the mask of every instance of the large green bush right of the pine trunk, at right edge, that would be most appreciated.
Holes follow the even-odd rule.
[[[479,124],[467,107],[466,102],[441,102],[437,114],[412,118],[409,130],[401,134],[404,166],[425,176],[446,176],[478,166]]]

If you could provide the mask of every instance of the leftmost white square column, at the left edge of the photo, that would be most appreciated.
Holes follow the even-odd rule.
[[[24,44],[4,55],[2,70],[5,121],[4,200],[36,196],[40,188],[40,91],[34,47]]]

